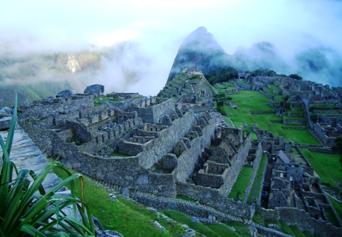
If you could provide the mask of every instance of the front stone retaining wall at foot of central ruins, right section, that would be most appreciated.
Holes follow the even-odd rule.
[[[176,181],[177,195],[185,195],[202,204],[212,206],[231,215],[251,219],[254,214],[254,206],[243,204],[233,199],[228,199],[227,196],[220,194],[220,192],[213,188],[206,188],[199,185],[183,183]]]

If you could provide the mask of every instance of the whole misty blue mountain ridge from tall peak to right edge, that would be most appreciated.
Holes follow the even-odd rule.
[[[229,55],[205,27],[190,33],[181,43],[168,81],[181,68],[195,65],[205,76],[213,75],[211,72],[214,70],[224,71],[225,68],[235,68],[241,72],[268,68],[278,74],[295,73],[306,80],[332,86],[341,86],[342,82],[342,57],[331,47],[303,47],[293,58],[285,60],[276,45],[262,41],[248,49],[239,47],[234,54]]]

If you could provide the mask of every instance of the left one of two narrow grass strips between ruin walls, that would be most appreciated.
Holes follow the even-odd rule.
[[[248,182],[251,180],[253,174],[252,167],[243,167],[239,173],[239,177],[237,181],[232,186],[232,190],[230,191],[228,198],[235,199],[235,201],[239,200],[241,197],[244,200],[244,194],[248,185]]]

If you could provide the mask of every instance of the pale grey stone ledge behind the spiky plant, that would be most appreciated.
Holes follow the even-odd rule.
[[[0,136],[3,142],[6,142],[8,132],[0,131]],[[2,158],[2,149],[0,147],[0,157]],[[31,169],[36,174],[39,174],[45,167],[50,165],[46,160],[46,156],[39,150],[39,148],[32,142],[29,135],[27,135],[19,125],[15,128],[15,134],[13,138],[13,145],[10,151],[10,160],[15,163],[18,171],[20,169]],[[2,166],[2,159],[0,162]],[[43,186],[45,190],[50,190],[54,185],[61,182],[61,179],[53,172],[47,174]]]

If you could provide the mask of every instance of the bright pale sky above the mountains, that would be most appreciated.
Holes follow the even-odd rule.
[[[228,54],[239,46],[269,41],[286,60],[320,46],[342,55],[342,1],[12,0],[0,2],[0,56],[70,52],[130,40],[138,49],[126,52],[122,63],[135,61],[131,64],[141,67],[144,75],[125,90],[156,95],[179,45],[199,26],[205,26]],[[136,62],[137,51],[137,58],[145,62]],[[117,65],[107,64],[110,68],[96,80],[117,89],[121,75],[115,75]]]

